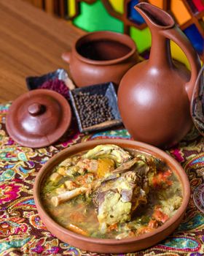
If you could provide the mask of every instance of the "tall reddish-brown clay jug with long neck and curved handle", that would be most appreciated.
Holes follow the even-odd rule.
[[[166,148],[178,143],[192,127],[190,100],[200,60],[167,12],[148,3],[137,4],[135,9],[149,26],[152,47],[149,60],[136,64],[123,76],[119,111],[135,140]],[[171,59],[170,39],[186,54],[191,73]]]

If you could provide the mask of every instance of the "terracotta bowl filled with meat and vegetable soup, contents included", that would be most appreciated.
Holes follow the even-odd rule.
[[[52,157],[36,177],[34,199],[42,221],[62,241],[92,252],[133,252],[178,226],[189,181],[158,148],[93,140]]]

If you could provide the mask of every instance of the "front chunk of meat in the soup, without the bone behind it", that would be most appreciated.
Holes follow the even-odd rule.
[[[118,178],[103,181],[95,191],[93,201],[98,208],[98,222],[104,229],[129,221],[137,206],[146,203],[146,193],[141,189],[141,178],[129,171]]]

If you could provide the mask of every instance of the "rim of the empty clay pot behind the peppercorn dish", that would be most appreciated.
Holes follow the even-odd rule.
[[[128,46],[130,48],[130,51],[120,58],[111,59],[108,61],[97,61],[93,59],[87,59],[81,54],[79,54],[76,48],[82,43],[90,42],[90,39],[91,40],[109,39],[111,41],[120,42],[123,45]],[[130,56],[133,56],[134,53],[137,53],[137,47],[133,39],[127,36],[127,34],[120,34],[114,31],[95,31],[95,32],[87,33],[84,36],[77,39],[76,42],[74,43],[73,52],[78,59],[86,63],[94,64],[94,65],[108,65],[108,64],[115,64],[120,61],[124,61],[125,59],[128,59]]]

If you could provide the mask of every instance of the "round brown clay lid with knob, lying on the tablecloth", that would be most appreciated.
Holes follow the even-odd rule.
[[[71,108],[55,91],[36,89],[18,97],[9,108],[7,132],[22,146],[41,148],[57,141],[71,123]]]

